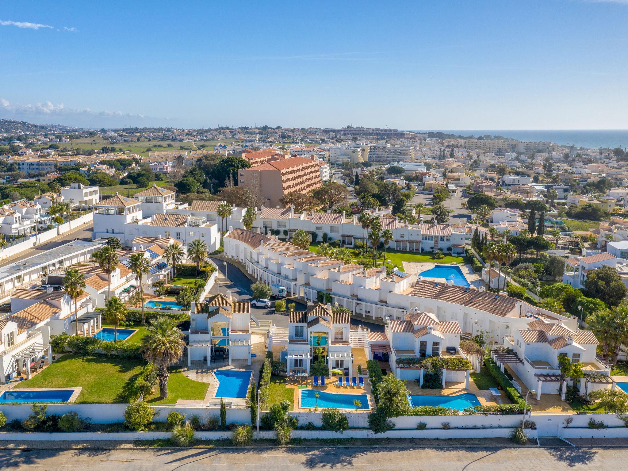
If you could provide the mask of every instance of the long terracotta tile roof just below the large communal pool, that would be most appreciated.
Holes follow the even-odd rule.
[[[469,306],[500,317],[506,317],[516,307],[516,300],[508,296],[434,281],[416,281],[410,295]]]

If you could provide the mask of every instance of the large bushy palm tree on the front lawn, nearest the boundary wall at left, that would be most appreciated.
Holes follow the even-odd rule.
[[[177,321],[169,317],[157,317],[148,325],[148,333],[142,338],[142,353],[146,361],[152,362],[158,369],[160,398],[168,397],[168,367],[183,354],[185,342]]]

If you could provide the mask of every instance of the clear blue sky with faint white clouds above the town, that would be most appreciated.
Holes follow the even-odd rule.
[[[627,20],[628,0],[5,3],[0,117],[625,129]]]

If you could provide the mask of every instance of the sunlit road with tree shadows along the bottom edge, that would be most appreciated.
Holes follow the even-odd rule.
[[[608,471],[625,469],[627,449],[289,447],[116,450],[0,450],[3,470]],[[211,467],[211,468],[210,468]]]

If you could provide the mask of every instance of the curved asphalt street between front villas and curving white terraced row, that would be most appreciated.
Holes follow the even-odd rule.
[[[230,290],[231,295],[235,296],[238,301],[251,301],[251,279],[242,273],[236,265],[229,263],[228,261],[225,265],[225,261],[221,258],[212,257],[212,260],[218,266],[222,277],[217,279],[217,283],[214,284],[214,287],[209,294],[217,295],[219,292],[224,294],[227,290]],[[296,309],[305,310],[305,305],[296,303]],[[288,327],[288,314],[276,313],[274,306],[271,306],[269,309],[252,307],[251,312],[258,320],[272,320],[276,327]],[[352,325],[362,324],[364,327],[370,328],[372,332],[384,332],[383,325],[363,322],[359,319],[352,319],[351,323]]]

